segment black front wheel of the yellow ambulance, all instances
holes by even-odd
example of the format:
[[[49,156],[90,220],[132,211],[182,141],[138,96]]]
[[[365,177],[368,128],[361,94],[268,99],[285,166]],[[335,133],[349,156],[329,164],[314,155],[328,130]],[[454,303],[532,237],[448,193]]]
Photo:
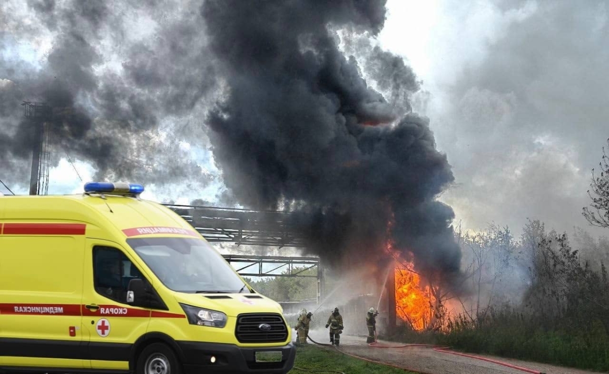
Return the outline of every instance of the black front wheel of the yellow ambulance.
[[[182,374],[182,367],[171,348],[153,343],[139,353],[135,374]]]

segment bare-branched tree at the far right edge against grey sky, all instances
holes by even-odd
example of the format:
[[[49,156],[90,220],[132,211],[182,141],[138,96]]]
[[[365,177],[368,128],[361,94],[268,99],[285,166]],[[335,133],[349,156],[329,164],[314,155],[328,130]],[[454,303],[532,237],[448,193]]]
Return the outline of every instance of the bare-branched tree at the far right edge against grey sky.
[[[607,139],[609,144],[609,139]],[[592,169],[591,189],[588,196],[592,199],[590,207],[583,208],[583,216],[593,226],[609,227],[609,156],[603,147],[603,156],[599,162],[600,175],[594,175]]]

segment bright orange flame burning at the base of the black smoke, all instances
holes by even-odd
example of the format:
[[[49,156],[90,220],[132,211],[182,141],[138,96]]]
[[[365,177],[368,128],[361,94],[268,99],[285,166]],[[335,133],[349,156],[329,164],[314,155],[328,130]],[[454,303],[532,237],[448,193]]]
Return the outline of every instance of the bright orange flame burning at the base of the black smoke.
[[[398,317],[414,330],[424,330],[433,316],[435,298],[429,286],[421,286],[413,264],[395,268],[395,310]]]

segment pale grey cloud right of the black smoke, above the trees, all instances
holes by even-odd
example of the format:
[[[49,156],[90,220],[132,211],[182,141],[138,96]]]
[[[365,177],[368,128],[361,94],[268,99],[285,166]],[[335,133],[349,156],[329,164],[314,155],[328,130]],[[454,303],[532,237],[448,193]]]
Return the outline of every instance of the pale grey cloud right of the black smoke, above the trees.
[[[477,51],[447,56],[439,68],[452,76],[440,73],[445,94],[426,113],[456,175],[443,201],[473,228],[518,229],[525,217],[586,226],[590,169],[609,137],[606,2],[449,2],[445,12],[463,25],[451,30],[455,49]]]

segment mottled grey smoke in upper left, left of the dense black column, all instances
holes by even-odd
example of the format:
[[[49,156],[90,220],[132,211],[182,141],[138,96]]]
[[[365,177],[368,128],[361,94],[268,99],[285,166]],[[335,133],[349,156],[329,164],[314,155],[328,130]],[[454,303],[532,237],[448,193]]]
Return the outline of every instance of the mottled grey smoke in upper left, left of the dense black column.
[[[196,107],[216,82],[199,6],[2,1],[0,178],[29,185],[34,126],[21,103],[33,101],[52,109],[46,116],[52,166],[67,154],[91,161],[100,180],[209,183],[213,176],[180,147],[181,140],[205,146],[191,116],[203,113]],[[147,28],[150,35],[137,35]],[[41,61],[16,57],[20,44],[44,40],[50,48]]]

